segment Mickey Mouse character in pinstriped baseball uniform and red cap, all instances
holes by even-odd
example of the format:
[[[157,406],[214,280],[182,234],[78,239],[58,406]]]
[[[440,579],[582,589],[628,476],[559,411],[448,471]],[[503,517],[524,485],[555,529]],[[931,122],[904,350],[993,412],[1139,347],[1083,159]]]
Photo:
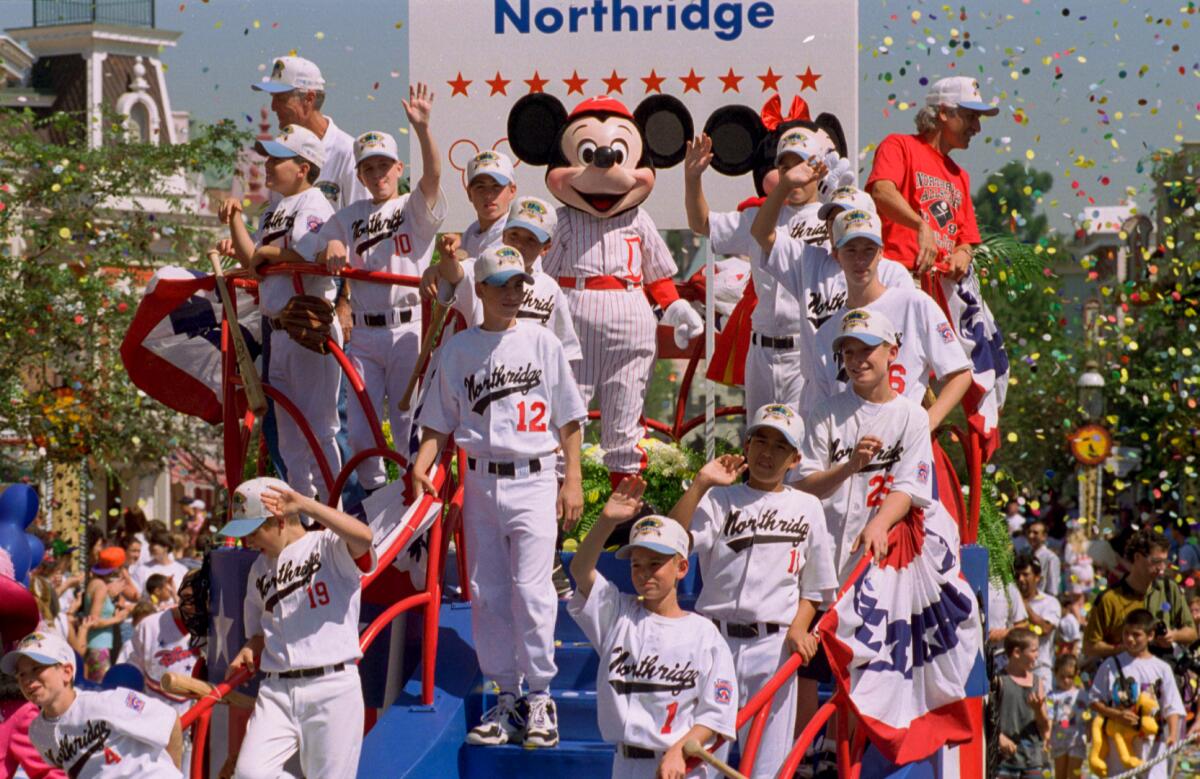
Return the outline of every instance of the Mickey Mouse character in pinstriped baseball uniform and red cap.
[[[648,97],[634,113],[613,97],[593,97],[568,114],[557,98],[533,94],[509,113],[510,148],[546,166],[546,186],[563,203],[544,266],[566,293],[583,349],[572,367],[584,402],[599,397],[613,485],[646,466],[637,443],[656,329],[647,296],[680,348],[704,326],[679,298],[674,259],[641,208],[655,168],[678,164],[691,133],[691,115],[670,95]]]

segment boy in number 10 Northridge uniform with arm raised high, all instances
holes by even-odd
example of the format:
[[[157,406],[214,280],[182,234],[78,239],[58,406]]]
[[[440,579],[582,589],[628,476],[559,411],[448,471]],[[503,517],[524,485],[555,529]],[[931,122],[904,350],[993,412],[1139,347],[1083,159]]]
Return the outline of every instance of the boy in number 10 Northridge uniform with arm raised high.
[[[320,230],[325,248],[320,259],[332,271],[349,266],[403,276],[420,276],[430,265],[433,240],[446,202],[439,185],[442,161],[430,133],[433,94],[425,84],[409,89],[402,101],[408,124],[421,149],[421,178],[412,193],[400,194],[404,163],[396,140],[385,132],[365,132],[354,142],[359,180],[371,193],[334,215]],[[350,317],[354,337],[346,355],[362,378],[371,403],[379,415],[388,399],[388,418],[395,448],[407,454],[412,417],[400,409],[400,397],[416,365],[421,349],[420,295],[414,287],[349,280]],[[371,425],[358,399],[347,405],[347,433],[358,454],[376,447]],[[371,493],[384,485],[388,474],[383,460],[370,457],[356,473],[359,484]]]

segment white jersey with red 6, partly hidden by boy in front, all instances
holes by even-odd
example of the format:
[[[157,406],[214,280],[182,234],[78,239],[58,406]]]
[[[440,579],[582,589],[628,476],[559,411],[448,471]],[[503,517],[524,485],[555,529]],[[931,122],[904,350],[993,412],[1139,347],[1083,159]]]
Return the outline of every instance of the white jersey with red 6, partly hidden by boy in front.
[[[887,316],[896,328],[900,353],[888,370],[892,389],[916,403],[925,397],[929,373],[938,379],[971,367],[959,337],[937,307],[934,299],[919,289],[889,287],[875,301],[863,306]],[[841,316],[845,308],[834,313],[817,330],[812,348],[812,365],[805,383],[805,408],[815,408],[821,397],[828,397],[850,388],[841,354],[835,354],[833,342],[841,332]]]

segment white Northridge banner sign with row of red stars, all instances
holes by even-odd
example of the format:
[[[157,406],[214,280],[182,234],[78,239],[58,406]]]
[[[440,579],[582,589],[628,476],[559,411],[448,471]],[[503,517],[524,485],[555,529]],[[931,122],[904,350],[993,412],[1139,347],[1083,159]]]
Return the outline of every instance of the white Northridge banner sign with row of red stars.
[[[509,109],[530,92],[566,110],[605,94],[630,110],[649,95],[674,95],[696,133],[722,106],[758,112],[778,94],[786,114],[798,95],[814,118],[839,118],[851,158],[858,149],[854,0],[410,0],[408,41],[410,80],[437,95],[446,230],[474,221],[467,162],[482,149],[510,154]],[[545,174],[518,164],[518,191],[554,202]],[[715,210],[755,194],[750,175],[713,170],[704,191]],[[646,208],[659,228],[686,227],[682,166],[659,172]]]

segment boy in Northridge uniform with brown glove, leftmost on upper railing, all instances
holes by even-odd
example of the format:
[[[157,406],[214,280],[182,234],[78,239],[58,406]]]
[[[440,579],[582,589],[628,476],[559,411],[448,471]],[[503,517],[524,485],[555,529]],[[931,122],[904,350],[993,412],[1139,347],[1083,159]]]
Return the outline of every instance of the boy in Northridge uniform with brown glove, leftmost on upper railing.
[[[218,247],[222,253],[236,257],[246,268],[275,263],[313,262],[320,248],[322,226],[334,215],[334,208],[313,186],[325,162],[325,149],[310,130],[288,125],[274,140],[256,144],[266,160],[266,188],[282,196],[278,203],[263,211],[258,233],[250,236],[241,218],[241,202],[229,198],[221,205],[221,221],[229,224],[229,240]],[[270,366],[263,378],[283,393],[307,420],[317,444],[336,474],[342,467],[337,449],[337,385],[341,377],[334,358],[306,349],[288,336],[277,317],[293,295],[308,294],[334,301],[334,280],[329,276],[275,274],[258,283],[258,307],[271,323]],[[331,337],[338,346],[342,329],[334,319]],[[322,499],[328,498],[326,485],[300,427],[292,415],[277,409],[280,456],[288,479],[296,491]]]

